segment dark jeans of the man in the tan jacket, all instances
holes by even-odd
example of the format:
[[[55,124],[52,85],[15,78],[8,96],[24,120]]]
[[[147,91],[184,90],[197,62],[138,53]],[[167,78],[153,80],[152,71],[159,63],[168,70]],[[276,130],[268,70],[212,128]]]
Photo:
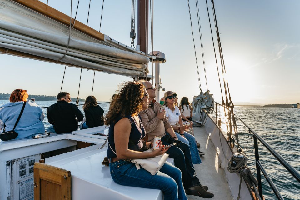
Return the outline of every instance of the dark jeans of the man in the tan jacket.
[[[162,137],[164,145],[172,144],[174,141],[168,134]],[[200,183],[192,162],[190,148],[186,143],[180,142],[178,145],[170,147],[166,153],[174,159],[175,166],[181,170],[184,188],[187,189]]]

